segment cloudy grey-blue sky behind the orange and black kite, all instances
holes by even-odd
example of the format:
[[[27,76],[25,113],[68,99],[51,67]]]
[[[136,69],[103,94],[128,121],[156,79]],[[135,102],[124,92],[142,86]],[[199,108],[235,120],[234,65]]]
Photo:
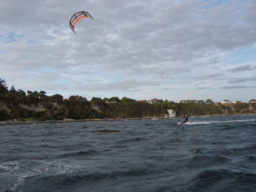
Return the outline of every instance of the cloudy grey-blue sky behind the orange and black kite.
[[[69,20],[79,11],[76,34]],[[0,0],[16,90],[136,100],[256,99],[256,0]]]

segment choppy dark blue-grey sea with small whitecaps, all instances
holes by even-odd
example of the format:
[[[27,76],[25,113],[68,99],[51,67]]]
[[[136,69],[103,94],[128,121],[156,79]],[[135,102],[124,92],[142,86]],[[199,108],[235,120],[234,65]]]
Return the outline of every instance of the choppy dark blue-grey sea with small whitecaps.
[[[255,192],[255,119],[1,125],[0,191]]]

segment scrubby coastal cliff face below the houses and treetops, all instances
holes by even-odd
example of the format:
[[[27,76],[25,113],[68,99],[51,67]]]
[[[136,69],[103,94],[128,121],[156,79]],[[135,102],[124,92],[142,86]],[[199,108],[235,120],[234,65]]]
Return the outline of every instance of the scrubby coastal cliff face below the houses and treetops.
[[[0,100],[0,120],[63,120],[69,119],[118,119],[163,117],[167,109],[174,109],[177,116],[214,116],[255,114],[256,104],[200,104],[139,102],[105,103],[100,101],[48,100],[32,103],[17,103]]]

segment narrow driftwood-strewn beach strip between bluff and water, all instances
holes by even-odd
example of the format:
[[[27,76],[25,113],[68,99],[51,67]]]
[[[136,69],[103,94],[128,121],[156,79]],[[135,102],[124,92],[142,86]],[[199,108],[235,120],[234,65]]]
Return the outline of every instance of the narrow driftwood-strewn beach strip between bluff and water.
[[[250,114],[222,114],[222,115],[202,115],[202,116],[190,116],[190,117],[214,117],[214,116],[242,116],[242,115],[256,115],[254,113]],[[117,118],[117,119],[77,119],[77,120],[27,120],[17,122],[15,120],[0,121],[0,125],[10,125],[10,124],[41,124],[41,123],[70,123],[70,122],[90,122],[90,121],[124,121],[124,120],[144,120],[144,119],[173,119],[173,118],[183,118],[183,117],[136,117],[136,118]]]

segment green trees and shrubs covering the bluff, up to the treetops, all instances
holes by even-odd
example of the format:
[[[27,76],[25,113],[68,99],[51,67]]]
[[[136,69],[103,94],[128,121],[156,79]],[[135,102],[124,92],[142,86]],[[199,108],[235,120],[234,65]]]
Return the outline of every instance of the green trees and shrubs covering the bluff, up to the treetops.
[[[63,120],[70,119],[102,119],[102,118],[140,118],[159,117],[168,114],[167,109],[174,109],[177,116],[222,115],[256,113],[256,104],[200,104],[200,103],[164,103],[148,104],[134,102],[123,97],[93,97],[91,101],[76,100],[70,96],[63,100],[62,95],[47,96],[44,91],[16,91],[14,86],[8,90],[6,81],[0,78],[0,120]],[[211,101],[210,99],[208,99]],[[116,101],[106,103],[105,101]]]

